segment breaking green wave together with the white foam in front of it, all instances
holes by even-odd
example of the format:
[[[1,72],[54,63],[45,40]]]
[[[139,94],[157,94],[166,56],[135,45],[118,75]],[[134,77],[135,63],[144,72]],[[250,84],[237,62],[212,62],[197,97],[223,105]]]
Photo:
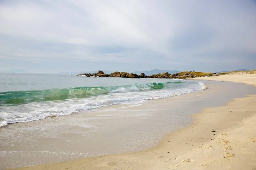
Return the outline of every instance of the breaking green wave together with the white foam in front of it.
[[[206,89],[202,82],[172,80],[121,86],[57,88],[0,93],[0,127],[109,105],[143,102]]]

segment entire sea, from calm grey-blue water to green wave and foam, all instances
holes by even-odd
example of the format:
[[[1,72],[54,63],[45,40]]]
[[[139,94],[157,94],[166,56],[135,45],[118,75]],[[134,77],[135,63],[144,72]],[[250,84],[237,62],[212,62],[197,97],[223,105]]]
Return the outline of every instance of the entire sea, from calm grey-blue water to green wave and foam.
[[[181,79],[0,74],[0,126],[203,89],[200,82]]]

